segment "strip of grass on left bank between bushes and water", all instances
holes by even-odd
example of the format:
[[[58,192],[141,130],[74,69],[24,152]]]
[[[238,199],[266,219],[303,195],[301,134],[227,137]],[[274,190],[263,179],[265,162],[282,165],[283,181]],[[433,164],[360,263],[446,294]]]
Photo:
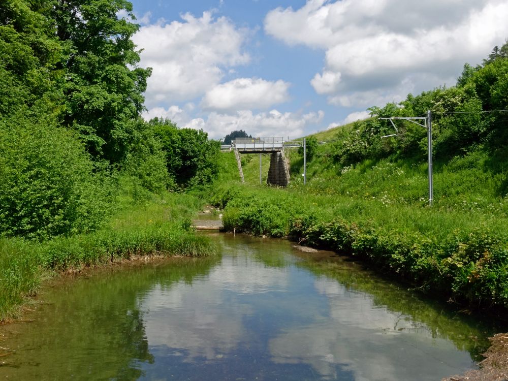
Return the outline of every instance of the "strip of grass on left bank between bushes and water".
[[[43,278],[56,272],[154,253],[213,255],[213,243],[191,228],[191,218],[201,206],[200,199],[185,194],[147,194],[143,201],[124,195],[117,212],[95,232],[43,242],[0,239],[0,321],[15,317]]]

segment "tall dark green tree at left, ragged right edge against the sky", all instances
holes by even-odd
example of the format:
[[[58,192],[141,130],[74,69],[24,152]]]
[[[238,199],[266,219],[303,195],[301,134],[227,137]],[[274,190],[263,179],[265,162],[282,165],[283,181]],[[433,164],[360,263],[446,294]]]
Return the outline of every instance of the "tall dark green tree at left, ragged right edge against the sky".
[[[132,36],[139,26],[125,0],[54,0],[51,16],[65,56],[58,68],[65,109],[61,123],[77,131],[96,158],[119,163],[129,149],[130,122],[143,110],[150,69],[140,60]]]

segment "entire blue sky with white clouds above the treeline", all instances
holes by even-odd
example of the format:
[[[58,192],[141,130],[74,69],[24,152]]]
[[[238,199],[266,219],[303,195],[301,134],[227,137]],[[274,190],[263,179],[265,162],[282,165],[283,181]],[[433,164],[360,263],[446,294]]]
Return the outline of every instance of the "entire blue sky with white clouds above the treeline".
[[[504,0],[135,0],[145,118],[296,138],[453,85],[508,37]]]

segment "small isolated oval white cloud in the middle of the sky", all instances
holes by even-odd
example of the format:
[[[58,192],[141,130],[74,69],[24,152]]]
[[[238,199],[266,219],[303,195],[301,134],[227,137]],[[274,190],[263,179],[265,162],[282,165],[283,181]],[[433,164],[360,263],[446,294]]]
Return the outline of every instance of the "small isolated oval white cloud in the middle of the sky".
[[[260,78],[237,78],[208,90],[201,103],[204,109],[237,111],[263,109],[289,100],[290,84]]]

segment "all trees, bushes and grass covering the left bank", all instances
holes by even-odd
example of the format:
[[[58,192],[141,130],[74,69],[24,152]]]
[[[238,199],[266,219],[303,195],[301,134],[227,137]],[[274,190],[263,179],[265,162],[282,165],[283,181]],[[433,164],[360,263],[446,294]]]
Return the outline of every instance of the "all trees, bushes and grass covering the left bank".
[[[141,117],[151,70],[130,14],[128,1],[0,4],[0,322],[44,273],[214,251],[190,231],[198,199],[168,191],[210,182],[219,143]]]

